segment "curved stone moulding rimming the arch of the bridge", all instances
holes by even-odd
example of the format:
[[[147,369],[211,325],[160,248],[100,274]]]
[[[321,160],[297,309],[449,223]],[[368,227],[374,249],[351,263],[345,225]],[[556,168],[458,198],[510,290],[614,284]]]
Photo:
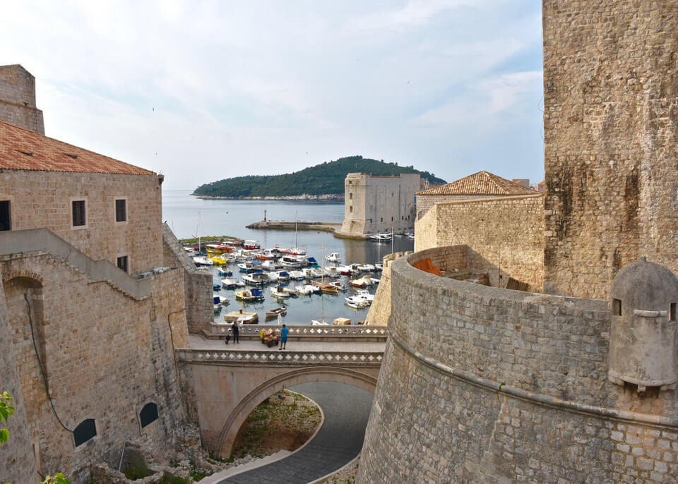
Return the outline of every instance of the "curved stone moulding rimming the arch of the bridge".
[[[304,367],[290,370],[266,380],[238,402],[219,433],[216,451],[221,457],[230,456],[233,452],[235,437],[242,427],[245,419],[258,404],[279,392],[285,387],[293,387],[302,383],[310,382],[336,382],[353,385],[374,394],[376,378],[360,373],[359,371],[339,368],[335,366]]]

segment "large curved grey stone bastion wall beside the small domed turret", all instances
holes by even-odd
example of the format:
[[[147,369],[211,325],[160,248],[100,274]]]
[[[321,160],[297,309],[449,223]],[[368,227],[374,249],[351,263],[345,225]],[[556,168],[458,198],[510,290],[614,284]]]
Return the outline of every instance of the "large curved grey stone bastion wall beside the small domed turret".
[[[674,391],[607,380],[607,301],[391,266],[389,339],[358,482],[675,482]]]

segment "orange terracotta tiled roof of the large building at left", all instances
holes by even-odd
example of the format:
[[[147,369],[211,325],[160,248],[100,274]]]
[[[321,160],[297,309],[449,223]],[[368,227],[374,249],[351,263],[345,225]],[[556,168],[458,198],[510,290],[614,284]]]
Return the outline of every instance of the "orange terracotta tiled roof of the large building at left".
[[[0,121],[0,169],[153,175],[153,171]]]

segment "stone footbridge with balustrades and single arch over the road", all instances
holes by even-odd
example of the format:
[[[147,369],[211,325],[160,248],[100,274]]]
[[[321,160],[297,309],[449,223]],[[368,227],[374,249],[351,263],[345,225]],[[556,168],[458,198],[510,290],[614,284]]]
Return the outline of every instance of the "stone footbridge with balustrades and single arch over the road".
[[[258,332],[269,327],[279,329],[245,327],[240,344],[225,345],[226,328],[214,325],[213,333],[191,335],[189,348],[176,350],[203,445],[219,456],[230,456],[249,413],[283,388],[326,381],[374,393],[386,327],[290,325],[285,351],[261,344]]]

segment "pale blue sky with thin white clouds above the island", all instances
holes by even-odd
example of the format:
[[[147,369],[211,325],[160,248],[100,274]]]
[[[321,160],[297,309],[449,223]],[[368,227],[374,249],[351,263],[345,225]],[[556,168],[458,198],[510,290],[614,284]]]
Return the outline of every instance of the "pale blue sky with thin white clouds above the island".
[[[537,0],[0,0],[45,134],[165,189],[362,155],[544,177]]]

